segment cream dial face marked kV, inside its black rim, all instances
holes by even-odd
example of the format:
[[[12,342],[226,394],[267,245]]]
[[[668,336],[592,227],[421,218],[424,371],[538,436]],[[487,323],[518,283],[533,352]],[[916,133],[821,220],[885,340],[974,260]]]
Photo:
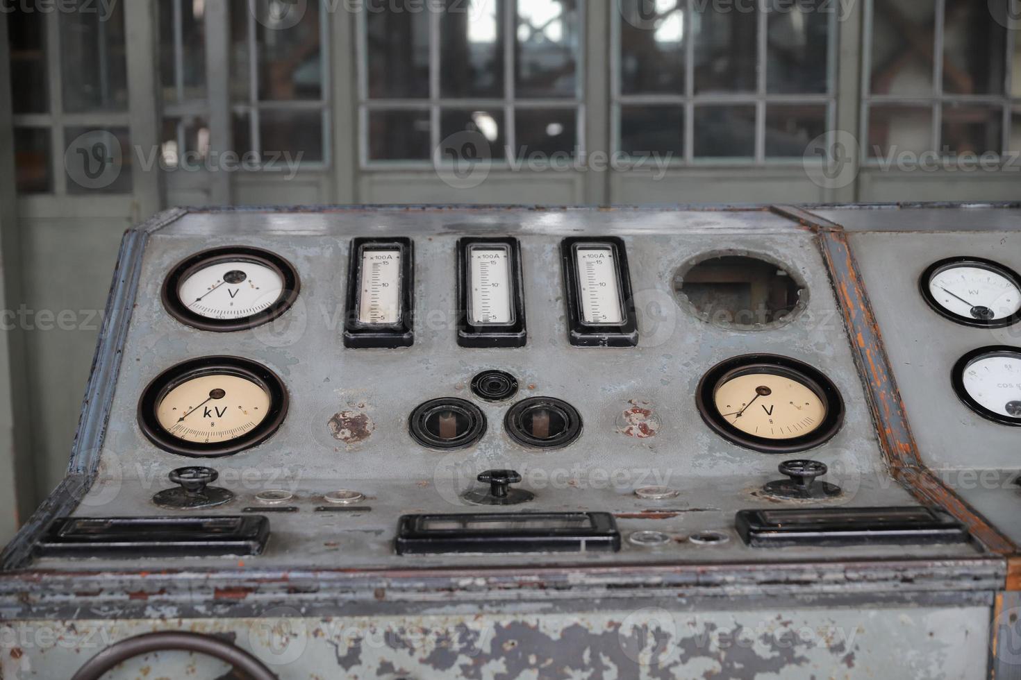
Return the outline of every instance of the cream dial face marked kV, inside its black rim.
[[[237,375],[212,374],[186,380],[156,407],[167,432],[191,442],[236,439],[255,429],[270,413],[270,396]]]

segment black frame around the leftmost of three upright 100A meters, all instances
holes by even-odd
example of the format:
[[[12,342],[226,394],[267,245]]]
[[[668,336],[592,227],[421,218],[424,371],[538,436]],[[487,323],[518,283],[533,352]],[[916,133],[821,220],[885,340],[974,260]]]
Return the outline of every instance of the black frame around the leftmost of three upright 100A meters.
[[[400,316],[397,323],[362,323],[360,308],[361,254],[374,250],[394,250],[401,254]],[[344,314],[344,347],[353,349],[394,349],[415,344],[415,244],[410,239],[354,239],[347,270],[347,307]]]

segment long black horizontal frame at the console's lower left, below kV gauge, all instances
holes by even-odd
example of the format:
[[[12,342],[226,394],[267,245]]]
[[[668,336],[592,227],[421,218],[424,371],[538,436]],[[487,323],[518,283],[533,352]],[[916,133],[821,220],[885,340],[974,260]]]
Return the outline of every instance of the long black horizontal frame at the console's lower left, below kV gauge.
[[[61,517],[36,542],[46,558],[158,558],[260,555],[270,520],[212,517]]]

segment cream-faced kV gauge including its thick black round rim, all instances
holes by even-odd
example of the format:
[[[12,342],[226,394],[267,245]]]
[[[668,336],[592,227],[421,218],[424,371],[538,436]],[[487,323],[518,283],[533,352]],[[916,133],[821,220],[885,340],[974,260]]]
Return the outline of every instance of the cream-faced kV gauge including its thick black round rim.
[[[287,390],[265,366],[205,357],[163,371],[145,388],[138,420],[157,447],[192,457],[229,456],[265,440],[284,421]]]

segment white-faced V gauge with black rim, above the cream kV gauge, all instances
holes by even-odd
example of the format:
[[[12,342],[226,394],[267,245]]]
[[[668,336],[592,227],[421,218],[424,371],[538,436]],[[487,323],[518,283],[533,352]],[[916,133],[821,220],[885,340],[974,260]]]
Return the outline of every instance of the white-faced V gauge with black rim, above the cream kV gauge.
[[[300,281],[284,258],[243,246],[214,248],[180,262],[163,283],[163,305],[202,330],[242,330],[272,321],[298,297]]]

